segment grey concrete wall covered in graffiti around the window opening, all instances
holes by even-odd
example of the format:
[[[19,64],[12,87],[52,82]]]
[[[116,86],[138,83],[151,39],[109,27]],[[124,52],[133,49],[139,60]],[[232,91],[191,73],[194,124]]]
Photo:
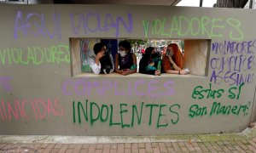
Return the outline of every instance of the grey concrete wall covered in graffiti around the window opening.
[[[233,133],[256,119],[255,10],[0,5],[0,11],[0,134]],[[78,74],[70,52],[79,49],[69,48],[75,37],[209,43],[203,51],[196,50],[200,45],[185,50],[186,66],[203,63],[205,71]]]

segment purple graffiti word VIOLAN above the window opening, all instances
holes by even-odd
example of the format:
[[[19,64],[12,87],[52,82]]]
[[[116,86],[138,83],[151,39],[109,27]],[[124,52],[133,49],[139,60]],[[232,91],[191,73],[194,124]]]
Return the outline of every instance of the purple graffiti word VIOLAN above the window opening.
[[[131,33],[133,30],[133,20],[130,13],[126,14],[126,17],[117,16],[113,14],[70,14],[71,26],[75,35],[83,33],[87,35],[89,33],[100,31],[112,31],[115,30],[115,37],[119,37],[119,31],[121,26],[126,32]],[[127,21],[125,21],[127,18]],[[79,20],[75,20],[79,19]]]

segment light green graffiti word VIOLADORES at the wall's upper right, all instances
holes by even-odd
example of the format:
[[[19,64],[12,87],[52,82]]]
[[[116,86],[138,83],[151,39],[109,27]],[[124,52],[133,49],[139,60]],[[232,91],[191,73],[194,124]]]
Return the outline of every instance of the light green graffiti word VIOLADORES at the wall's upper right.
[[[227,25],[227,26],[226,26]],[[231,40],[242,40],[244,34],[241,31],[241,21],[234,18],[221,19],[202,17],[185,17],[173,15],[172,19],[162,18],[143,20],[145,37],[184,37],[184,36],[207,36],[210,38],[224,37],[219,30],[228,31]],[[175,35],[176,34],[176,35]]]

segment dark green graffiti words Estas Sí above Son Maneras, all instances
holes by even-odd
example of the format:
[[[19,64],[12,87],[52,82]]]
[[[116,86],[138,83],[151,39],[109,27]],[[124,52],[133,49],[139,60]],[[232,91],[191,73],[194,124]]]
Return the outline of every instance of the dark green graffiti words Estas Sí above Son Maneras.
[[[228,89],[228,97],[230,99],[239,99],[241,95],[241,87],[244,83],[241,83],[239,87],[234,86]],[[212,83],[209,83],[209,88],[203,88],[202,86],[197,86],[194,88],[192,93],[193,99],[218,99],[224,94],[224,89],[212,89]]]

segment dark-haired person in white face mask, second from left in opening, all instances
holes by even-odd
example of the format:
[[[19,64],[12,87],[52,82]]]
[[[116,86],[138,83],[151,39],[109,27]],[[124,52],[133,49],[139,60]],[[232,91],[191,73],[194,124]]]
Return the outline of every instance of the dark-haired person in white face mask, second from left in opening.
[[[115,55],[114,69],[124,76],[137,72],[137,58],[131,53],[130,42],[119,42],[119,53]]]

